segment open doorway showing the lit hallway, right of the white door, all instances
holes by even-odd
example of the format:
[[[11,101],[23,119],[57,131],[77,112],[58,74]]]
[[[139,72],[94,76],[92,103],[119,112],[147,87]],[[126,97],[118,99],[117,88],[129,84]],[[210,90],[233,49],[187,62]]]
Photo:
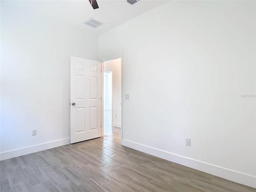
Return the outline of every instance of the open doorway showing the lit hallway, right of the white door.
[[[103,134],[104,138],[112,138],[121,142],[122,121],[122,72],[121,58],[107,60],[103,68]]]

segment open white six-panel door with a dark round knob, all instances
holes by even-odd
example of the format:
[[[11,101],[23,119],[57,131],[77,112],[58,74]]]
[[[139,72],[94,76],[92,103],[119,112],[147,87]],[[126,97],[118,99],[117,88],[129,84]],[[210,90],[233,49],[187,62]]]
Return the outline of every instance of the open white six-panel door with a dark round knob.
[[[101,62],[70,58],[70,142],[101,136]]]

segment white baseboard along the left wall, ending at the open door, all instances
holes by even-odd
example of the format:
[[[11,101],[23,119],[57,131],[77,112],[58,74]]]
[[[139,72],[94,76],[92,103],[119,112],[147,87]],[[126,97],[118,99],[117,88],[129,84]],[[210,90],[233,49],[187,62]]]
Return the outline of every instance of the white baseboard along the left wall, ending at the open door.
[[[26,154],[54,148],[54,147],[59,147],[67,144],[70,144],[70,138],[43,143],[43,144],[34,145],[34,146],[29,146],[25,148],[20,148],[16,150],[6,151],[6,152],[0,153],[0,160],[6,160],[6,159],[10,159],[10,158],[14,158],[14,157],[18,157],[18,156],[22,156],[22,155],[26,155]]]

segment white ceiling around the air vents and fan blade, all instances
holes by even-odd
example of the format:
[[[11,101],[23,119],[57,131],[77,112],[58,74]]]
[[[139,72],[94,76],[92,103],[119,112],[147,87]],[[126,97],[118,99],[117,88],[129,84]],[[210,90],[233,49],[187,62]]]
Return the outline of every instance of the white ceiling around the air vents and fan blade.
[[[98,35],[139,16],[168,0],[140,0],[131,5],[126,0],[97,0],[98,9],[93,9],[88,0],[49,0],[49,1],[12,1],[14,6],[37,14],[44,14],[79,25]],[[98,28],[92,28],[84,21],[94,18],[103,22]]]

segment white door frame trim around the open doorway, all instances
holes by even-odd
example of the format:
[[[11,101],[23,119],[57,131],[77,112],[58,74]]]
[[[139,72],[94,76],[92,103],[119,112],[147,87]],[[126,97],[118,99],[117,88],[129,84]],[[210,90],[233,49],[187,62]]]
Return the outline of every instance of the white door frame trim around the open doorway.
[[[101,60],[101,136],[104,136],[104,62],[121,58],[121,145],[123,143],[123,54]],[[113,117],[111,117],[113,118]],[[112,120],[113,121],[113,120]]]

